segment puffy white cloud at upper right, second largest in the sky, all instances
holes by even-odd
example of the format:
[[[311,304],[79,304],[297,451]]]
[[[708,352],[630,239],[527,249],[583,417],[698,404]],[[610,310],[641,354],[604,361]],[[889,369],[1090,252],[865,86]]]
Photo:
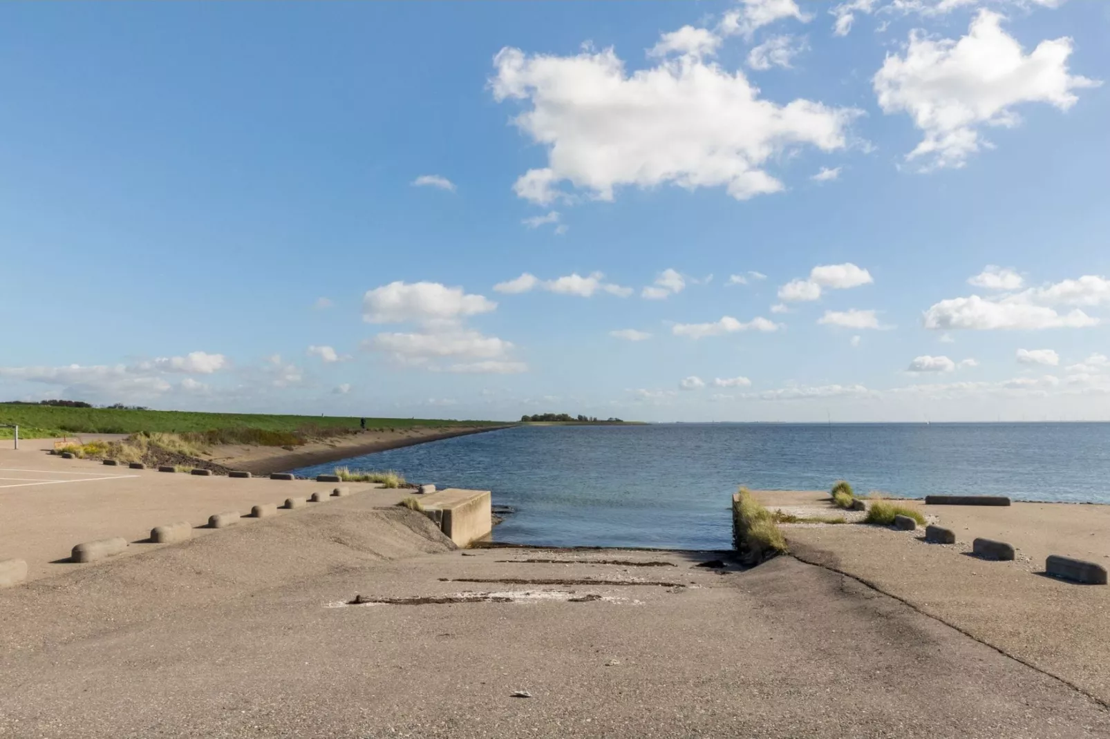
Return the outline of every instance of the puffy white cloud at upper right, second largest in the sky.
[[[980,10],[958,41],[910,33],[905,55],[888,54],[872,83],[882,112],[908,113],[925,139],[906,159],[922,169],[959,168],[989,142],[985,125],[1015,126],[1016,105],[1076,104],[1076,90],[1099,84],[1068,72],[1072,41],[1041,41],[1026,54],[1001,27],[1002,16]]]

